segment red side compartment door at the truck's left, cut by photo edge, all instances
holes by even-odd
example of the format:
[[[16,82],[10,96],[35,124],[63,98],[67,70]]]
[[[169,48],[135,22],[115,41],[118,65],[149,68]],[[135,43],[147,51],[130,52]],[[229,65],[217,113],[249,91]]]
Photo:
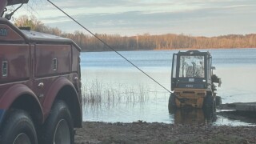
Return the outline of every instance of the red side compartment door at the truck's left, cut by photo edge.
[[[30,46],[0,44],[0,83],[30,78]]]

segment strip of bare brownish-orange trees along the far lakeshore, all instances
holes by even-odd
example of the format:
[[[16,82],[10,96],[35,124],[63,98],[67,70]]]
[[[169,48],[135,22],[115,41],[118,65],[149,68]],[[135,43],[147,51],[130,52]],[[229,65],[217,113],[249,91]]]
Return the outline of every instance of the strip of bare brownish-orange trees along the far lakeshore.
[[[54,34],[73,39],[82,51],[109,51],[97,38],[79,31],[64,33],[58,28],[45,26],[34,16],[23,15],[14,20],[19,27],[29,26],[31,30]],[[214,48],[253,48],[256,47],[256,34],[229,34],[218,37],[195,37],[185,34],[142,34],[120,36],[118,34],[96,34],[114,50],[178,50],[178,49],[214,49]]]

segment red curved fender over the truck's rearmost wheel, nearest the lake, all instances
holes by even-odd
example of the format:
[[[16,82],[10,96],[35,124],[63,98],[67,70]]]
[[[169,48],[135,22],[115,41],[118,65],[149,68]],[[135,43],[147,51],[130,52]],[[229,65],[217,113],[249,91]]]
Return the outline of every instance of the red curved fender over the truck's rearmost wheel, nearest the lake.
[[[76,94],[75,98],[77,99],[77,102],[79,102],[78,93],[76,92],[76,89],[74,88],[73,83],[70,82],[67,78],[64,78],[64,77],[58,78],[51,84],[50,90],[48,90],[46,94],[46,98],[42,104],[44,121],[46,120],[48,114],[50,113],[54,100],[58,96],[58,92],[62,90],[64,86],[70,86],[74,90]]]

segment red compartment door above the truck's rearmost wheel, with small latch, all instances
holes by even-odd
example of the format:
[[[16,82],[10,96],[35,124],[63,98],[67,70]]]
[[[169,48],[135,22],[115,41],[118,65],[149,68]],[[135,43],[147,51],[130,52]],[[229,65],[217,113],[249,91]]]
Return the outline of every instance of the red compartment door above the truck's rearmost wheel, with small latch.
[[[70,45],[36,45],[35,77],[70,73],[71,56]]]

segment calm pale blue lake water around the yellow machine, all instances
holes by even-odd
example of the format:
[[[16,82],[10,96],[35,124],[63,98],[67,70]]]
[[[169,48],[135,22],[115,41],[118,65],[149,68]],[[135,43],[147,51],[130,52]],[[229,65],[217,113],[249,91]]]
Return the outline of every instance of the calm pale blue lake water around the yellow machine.
[[[256,102],[256,49],[201,50],[213,57],[214,73],[222,78],[222,103]],[[178,50],[119,52],[170,90],[172,54]],[[83,121],[186,123],[206,122],[202,112],[170,114],[170,93],[114,52],[81,54],[82,84],[86,95],[96,93],[96,104],[84,102]],[[94,90],[93,90],[94,89]],[[95,90],[96,89],[96,90]],[[192,116],[191,116],[192,114]],[[217,115],[216,125],[250,125]]]

